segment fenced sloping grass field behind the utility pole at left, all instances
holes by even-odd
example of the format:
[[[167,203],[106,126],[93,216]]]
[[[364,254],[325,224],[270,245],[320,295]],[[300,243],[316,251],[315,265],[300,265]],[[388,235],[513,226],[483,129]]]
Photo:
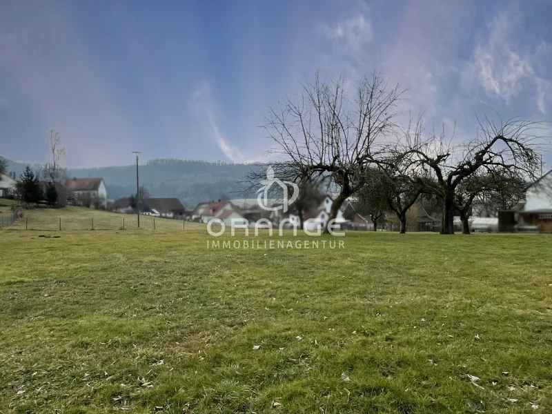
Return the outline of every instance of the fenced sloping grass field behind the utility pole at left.
[[[93,208],[66,206],[64,208],[34,208],[25,210],[23,219],[17,221],[10,230],[58,230],[61,218],[61,230],[122,230],[123,220],[126,230],[136,230],[138,219],[136,215],[108,213]],[[93,223],[92,223],[93,220]],[[141,230],[153,230],[153,217],[140,216]],[[188,230],[206,228],[204,224],[185,224]],[[155,218],[157,230],[183,230],[181,220]]]

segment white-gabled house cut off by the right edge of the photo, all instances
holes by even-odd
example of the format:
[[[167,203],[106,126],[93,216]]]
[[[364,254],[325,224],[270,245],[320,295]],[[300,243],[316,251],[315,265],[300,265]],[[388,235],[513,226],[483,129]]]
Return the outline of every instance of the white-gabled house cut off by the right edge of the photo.
[[[517,228],[552,233],[552,170],[527,187]]]

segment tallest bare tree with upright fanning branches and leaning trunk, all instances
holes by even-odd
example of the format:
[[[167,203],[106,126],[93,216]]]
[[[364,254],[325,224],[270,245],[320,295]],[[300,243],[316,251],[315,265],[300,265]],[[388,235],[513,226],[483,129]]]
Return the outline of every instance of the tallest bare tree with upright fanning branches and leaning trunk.
[[[359,80],[351,97],[345,84],[322,81],[317,73],[314,81],[302,83],[300,95],[270,107],[265,125],[276,144],[277,162],[271,164],[280,179],[331,177],[337,196],[328,223],[362,187],[366,168],[382,154],[381,144],[398,130],[398,86],[388,88],[379,72]]]

